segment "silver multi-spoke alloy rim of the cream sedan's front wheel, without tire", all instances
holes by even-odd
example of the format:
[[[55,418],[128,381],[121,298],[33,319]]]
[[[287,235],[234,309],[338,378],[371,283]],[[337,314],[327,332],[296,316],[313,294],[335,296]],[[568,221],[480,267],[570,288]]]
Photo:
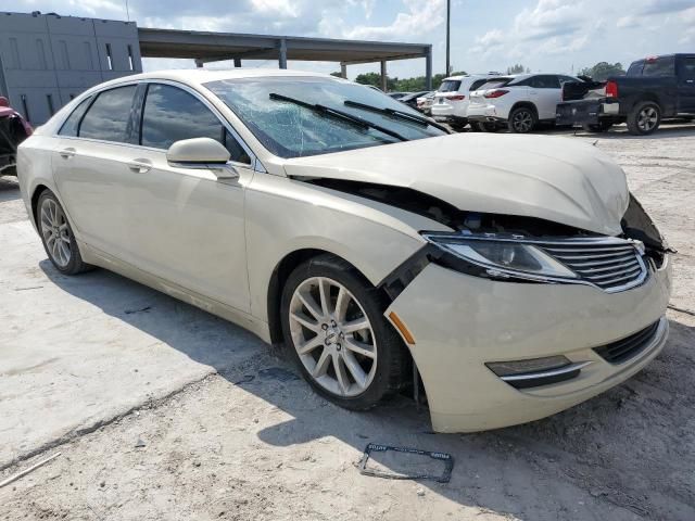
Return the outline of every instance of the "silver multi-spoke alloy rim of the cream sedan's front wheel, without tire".
[[[354,295],[327,277],[304,280],[289,309],[292,343],[321,387],[341,397],[365,392],[377,370],[377,343],[369,318]]]

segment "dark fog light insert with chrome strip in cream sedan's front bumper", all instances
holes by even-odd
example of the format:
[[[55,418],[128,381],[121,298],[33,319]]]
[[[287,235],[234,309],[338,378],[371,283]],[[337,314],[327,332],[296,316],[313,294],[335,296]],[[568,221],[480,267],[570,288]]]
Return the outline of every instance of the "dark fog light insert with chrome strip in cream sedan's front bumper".
[[[488,369],[513,387],[528,389],[577,378],[591,361],[571,363],[565,356],[548,356],[517,361],[492,361]]]

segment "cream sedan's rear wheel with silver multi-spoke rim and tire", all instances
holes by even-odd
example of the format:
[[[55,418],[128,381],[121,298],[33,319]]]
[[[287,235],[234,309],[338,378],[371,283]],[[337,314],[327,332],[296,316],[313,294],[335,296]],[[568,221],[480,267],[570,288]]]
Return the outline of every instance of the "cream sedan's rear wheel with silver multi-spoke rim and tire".
[[[43,249],[55,269],[64,275],[77,275],[91,269],[83,260],[63,206],[50,190],[39,195],[36,221]]]

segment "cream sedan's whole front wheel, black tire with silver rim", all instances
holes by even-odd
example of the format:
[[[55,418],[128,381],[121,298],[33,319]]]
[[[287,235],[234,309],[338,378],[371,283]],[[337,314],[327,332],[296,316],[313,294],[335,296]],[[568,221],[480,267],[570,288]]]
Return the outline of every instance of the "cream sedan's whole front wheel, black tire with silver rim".
[[[314,257],[282,290],[282,332],[306,381],[352,410],[374,407],[404,381],[405,351],[383,317],[387,302],[345,260]]]

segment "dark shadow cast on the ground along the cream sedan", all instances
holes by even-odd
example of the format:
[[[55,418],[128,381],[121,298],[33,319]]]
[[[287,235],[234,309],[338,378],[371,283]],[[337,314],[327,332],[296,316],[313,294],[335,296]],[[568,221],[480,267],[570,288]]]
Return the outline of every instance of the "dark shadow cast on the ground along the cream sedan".
[[[375,442],[446,452],[456,461],[451,482],[424,481],[421,486],[460,505],[525,519],[595,519],[606,512],[611,519],[695,519],[695,329],[677,320],[671,320],[669,344],[653,364],[594,399],[526,425],[443,435],[430,432],[427,411],[406,397],[363,414],[328,404],[282,357],[270,356],[266,344],[224,320],[214,319],[215,336],[256,346],[255,363],[236,367],[218,342],[191,347],[190,335],[179,334],[170,321],[143,315],[175,313],[186,329],[210,316],[166,295],[143,293],[136,282],[105,270],[67,278],[48,260],[40,267],[64,291],[213,366],[231,384],[292,417],[262,430],[263,443],[287,447],[332,436],[357,450]],[[113,298],[128,292],[139,295],[132,305]],[[378,478],[364,479],[379,487]],[[583,498],[579,513],[578,494]]]

